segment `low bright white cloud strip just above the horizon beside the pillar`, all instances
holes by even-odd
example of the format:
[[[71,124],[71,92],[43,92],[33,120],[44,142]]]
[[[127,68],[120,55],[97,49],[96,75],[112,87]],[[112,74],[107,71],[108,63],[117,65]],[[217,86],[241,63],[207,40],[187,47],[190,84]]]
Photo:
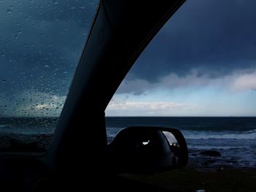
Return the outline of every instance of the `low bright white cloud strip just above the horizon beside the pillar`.
[[[108,104],[106,115],[176,115],[197,108],[197,104],[185,104],[176,102],[141,102],[141,101],[118,101],[112,100]]]

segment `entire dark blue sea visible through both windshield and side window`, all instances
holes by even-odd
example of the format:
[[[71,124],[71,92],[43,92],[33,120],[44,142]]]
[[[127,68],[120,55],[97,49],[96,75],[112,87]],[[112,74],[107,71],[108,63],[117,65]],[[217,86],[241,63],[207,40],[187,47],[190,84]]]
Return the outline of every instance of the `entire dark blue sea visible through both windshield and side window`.
[[[0,153],[47,150],[58,118],[0,118]],[[189,164],[200,169],[256,168],[256,118],[107,117],[108,143],[129,126],[178,128]],[[203,155],[214,150],[220,156]]]

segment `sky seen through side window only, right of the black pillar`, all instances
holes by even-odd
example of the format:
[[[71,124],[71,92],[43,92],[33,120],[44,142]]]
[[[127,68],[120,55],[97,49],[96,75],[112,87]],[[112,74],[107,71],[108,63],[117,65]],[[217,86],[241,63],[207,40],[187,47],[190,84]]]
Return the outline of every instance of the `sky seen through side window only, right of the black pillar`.
[[[121,83],[108,116],[255,116],[256,1],[188,0]]]

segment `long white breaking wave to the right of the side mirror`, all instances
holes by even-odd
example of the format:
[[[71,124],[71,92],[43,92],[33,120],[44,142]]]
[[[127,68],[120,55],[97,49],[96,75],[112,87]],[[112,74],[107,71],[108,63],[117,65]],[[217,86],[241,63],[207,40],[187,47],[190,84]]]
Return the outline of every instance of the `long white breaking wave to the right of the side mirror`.
[[[256,129],[250,131],[182,131],[185,139],[256,139]]]

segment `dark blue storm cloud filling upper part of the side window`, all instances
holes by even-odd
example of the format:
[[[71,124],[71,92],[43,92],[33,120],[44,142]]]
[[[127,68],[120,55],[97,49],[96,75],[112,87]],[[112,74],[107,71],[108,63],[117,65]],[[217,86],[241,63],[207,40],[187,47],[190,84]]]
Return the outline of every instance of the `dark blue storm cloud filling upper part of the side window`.
[[[256,1],[191,0],[162,28],[129,73],[157,82],[174,73],[222,77],[256,66]]]

